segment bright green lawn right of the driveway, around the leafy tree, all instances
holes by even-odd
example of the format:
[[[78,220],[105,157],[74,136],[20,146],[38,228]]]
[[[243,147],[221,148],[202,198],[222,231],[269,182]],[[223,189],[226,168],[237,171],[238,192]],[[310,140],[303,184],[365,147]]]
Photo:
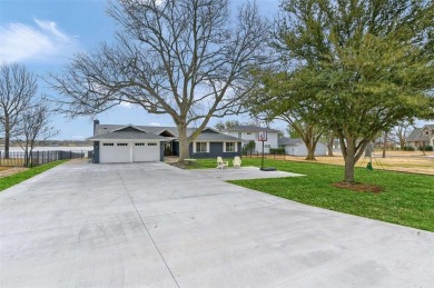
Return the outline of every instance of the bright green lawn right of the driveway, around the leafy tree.
[[[260,166],[260,159],[244,158],[243,166]],[[433,176],[356,168],[356,181],[384,188],[372,193],[332,187],[343,180],[341,166],[269,159],[266,166],[306,176],[229,182],[310,206],[434,231]],[[204,159],[190,168],[215,167],[215,159]]]

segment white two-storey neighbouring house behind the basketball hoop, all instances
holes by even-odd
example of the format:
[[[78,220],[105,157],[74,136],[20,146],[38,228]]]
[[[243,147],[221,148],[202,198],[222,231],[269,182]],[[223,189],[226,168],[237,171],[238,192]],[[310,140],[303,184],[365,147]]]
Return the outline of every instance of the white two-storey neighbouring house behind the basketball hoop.
[[[270,148],[278,148],[277,138],[278,130],[272,128],[262,128],[257,126],[235,126],[223,130],[223,133],[228,136],[237,137],[243,139],[243,145],[246,145],[248,141],[255,141],[255,151],[263,152],[263,142],[258,141],[260,132],[267,132],[267,141],[264,142],[264,152],[269,153]]]

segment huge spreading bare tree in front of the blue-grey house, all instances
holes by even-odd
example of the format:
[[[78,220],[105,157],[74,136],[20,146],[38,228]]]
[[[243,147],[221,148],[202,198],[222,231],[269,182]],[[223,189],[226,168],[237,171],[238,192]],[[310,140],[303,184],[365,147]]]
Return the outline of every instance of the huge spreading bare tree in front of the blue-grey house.
[[[109,14],[121,30],[115,46],[79,53],[51,86],[70,117],[121,102],[167,113],[179,132],[179,159],[211,117],[240,112],[249,71],[269,60],[268,26],[256,6],[231,14],[228,0],[121,0]],[[198,129],[191,136],[187,127]]]

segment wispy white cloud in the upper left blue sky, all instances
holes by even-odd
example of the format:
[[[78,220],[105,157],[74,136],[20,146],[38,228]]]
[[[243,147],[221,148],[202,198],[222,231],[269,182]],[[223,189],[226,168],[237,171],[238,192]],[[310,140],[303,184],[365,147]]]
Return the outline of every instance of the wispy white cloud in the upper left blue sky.
[[[34,19],[36,26],[9,23],[0,27],[0,61],[52,61],[69,57],[77,41],[53,21]]]

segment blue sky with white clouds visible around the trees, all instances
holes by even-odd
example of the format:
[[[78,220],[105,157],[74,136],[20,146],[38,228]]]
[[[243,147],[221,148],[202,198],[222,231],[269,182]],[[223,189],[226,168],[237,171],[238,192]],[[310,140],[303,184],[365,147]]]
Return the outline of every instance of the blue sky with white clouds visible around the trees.
[[[233,8],[244,2],[233,0]],[[279,0],[256,2],[264,16],[273,17]],[[0,61],[24,64],[43,77],[59,71],[75,51],[89,51],[101,41],[112,41],[116,26],[106,11],[106,0],[0,0]],[[42,81],[39,93],[56,96]],[[102,123],[174,126],[167,116],[129,107],[111,109],[98,119]],[[89,118],[68,120],[57,116],[53,125],[61,130],[58,139],[83,139],[92,133]]]

